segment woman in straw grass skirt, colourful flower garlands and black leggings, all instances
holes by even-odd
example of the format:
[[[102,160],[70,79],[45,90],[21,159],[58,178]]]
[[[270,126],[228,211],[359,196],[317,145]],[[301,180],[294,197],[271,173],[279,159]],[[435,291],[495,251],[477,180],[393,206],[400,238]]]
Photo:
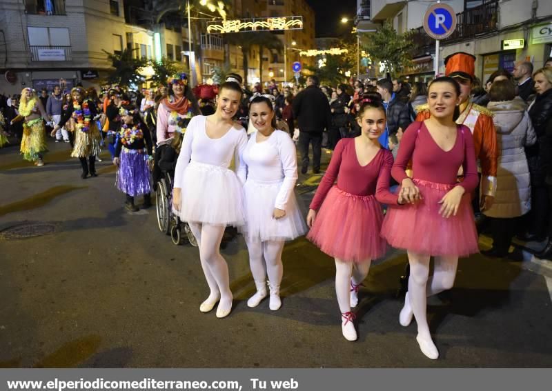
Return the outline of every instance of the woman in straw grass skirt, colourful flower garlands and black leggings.
[[[81,161],[81,178],[86,179],[88,174],[97,177],[96,157],[99,156],[101,133],[95,117],[97,116],[96,103],[86,99],[86,92],[81,87],[71,90],[72,103],[63,111],[61,120],[54,127],[50,136],[55,137],[57,131],[66,126],[73,134],[74,146],[71,157],[78,157]]]

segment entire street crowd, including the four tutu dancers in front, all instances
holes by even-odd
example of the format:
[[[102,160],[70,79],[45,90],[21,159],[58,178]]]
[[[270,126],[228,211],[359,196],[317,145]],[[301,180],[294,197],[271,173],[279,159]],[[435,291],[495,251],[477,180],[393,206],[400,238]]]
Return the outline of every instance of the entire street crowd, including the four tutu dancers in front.
[[[118,87],[98,94],[57,86],[41,96],[25,88],[0,101],[0,147],[14,137],[23,159],[43,166],[50,134],[70,144],[82,179],[97,176],[95,162],[108,148],[130,211],[139,209],[136,197],[151,206],[151,192],[168,176],[168,213],[197,240],[209,288],[199,310],[216,305],[218,318],[233,305],[219,251],[228,226],[246,241],[252,308],[266,297],[270,310],[281,307],[286,241],[306,234],[333,257],[348,341],[357,339],[352,309],[371,261],[389,245],[406,250],[399,322],[415,319],[420,350],[437,359],[426,298],[453,287],[459,257],[480,252],[478,229],[493,239],[487,257],[508,257],[517,235],[542,242],[536,255],[552,259],[552,59],[538,70],[518,61],[484,85],[471,54],[452,54],[445,66],[444,76],[412,86],[379,79],[333,88],[310,76],[306,88],[280,91],[271,81],[250,91],[228,74],[219,86],[192,89],[176,74],[134,97]],[[294,188],[298,166],[303,174],[311,166],[311,147],[314,174],[322,148],[333,152],[304,219]]]

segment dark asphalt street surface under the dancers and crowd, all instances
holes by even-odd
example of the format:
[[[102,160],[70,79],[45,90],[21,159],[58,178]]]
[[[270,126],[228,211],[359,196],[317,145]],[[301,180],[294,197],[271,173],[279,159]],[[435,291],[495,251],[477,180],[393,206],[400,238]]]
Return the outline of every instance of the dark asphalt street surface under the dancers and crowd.
[[[0,149],[0,368],[552,366],[549,261],[460,261],[453,290],[428,302],[437,361],[420,352],[415,322],[398,323],[400,252],[373,265],[357,307],[359,340],[348,342],[331,258],[305,239],[288,243],[282,308],[251,309],[246,246],[228,238],[235,302],[217,319],[199,312],[208,289],[197,248],[159,232],[155,208],[124,210],[108,153],[99,177],[82,180],[68,145],[49,147],[42,168],[14,146]],[[318,180],[299,178],[304,206]],[[33,232],[23,223],[46,234],[21,239]]]

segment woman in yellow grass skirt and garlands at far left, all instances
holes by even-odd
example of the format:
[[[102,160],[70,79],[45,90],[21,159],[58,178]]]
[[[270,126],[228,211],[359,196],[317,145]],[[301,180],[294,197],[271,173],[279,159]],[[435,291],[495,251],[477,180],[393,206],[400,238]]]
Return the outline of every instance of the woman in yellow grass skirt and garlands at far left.
[[[12,119],[11,123],[24,120],[23,138],[19,150],[23,159],[34,161],[36,166],[44,166],[44,154],[48,152],[46,137],[44,134],[44,121],[50,118],[42,106],[37,93],[32,88],[23,88],[19,101],[19,115]]]

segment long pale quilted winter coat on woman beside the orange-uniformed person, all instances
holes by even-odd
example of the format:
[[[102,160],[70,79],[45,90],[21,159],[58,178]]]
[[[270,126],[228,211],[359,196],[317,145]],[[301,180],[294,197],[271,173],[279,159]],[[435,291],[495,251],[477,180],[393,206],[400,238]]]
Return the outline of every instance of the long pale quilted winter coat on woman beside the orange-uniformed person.
[[[500,218],[522,216],[531,210],[531,180],[524,147],[537,141],[535,130],[527,106],[519,97],[491,101],[487,108],[494,114],[500,157],[495,202],[483,213]]]

